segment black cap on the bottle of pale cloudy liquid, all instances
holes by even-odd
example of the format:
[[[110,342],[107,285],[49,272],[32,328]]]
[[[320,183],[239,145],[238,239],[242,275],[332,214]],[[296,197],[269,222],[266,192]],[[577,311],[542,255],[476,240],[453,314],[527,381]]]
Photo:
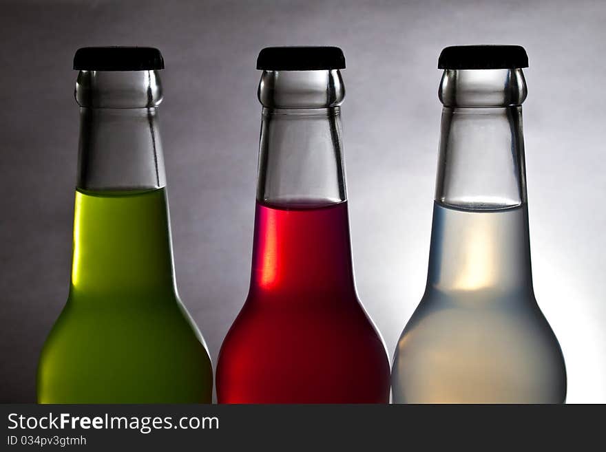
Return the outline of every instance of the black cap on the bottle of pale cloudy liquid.
[[[528,67],[521,45],[453,45],[442,50],[438,69],[515,69]]]

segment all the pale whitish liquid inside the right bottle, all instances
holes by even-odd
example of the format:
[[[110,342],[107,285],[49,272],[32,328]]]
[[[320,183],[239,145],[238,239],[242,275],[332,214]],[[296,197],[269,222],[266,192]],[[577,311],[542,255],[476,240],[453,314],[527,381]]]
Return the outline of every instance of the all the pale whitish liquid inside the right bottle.
[[[527,206],[463,211],[435,202],[433,218],[428,279],[452,284],[428,283],[402,333],[394,402],[564,402],[560,347],[519,277],[530,275]]]

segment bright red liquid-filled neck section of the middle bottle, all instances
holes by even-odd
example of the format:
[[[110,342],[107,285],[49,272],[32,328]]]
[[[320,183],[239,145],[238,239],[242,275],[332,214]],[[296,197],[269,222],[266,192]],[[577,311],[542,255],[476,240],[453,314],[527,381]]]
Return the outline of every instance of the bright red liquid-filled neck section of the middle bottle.
[[[250,299],[355,299],[347,203],[283,208],[257,202]]]

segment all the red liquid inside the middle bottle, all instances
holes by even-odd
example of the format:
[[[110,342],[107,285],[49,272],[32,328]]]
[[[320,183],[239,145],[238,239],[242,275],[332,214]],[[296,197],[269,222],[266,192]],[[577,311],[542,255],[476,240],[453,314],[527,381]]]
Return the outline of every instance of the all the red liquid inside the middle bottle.
[[[251,288],[217,367],[219,403],[386,403],[385,348],[353,281],[347,204],[257,203]]]

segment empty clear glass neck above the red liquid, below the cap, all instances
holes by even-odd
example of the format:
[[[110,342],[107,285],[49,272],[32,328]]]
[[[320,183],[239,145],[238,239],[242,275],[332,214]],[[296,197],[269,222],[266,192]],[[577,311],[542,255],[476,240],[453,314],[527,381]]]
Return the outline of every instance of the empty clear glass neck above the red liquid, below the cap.
[[[285,206],[346,200],[338,70],[263,71],[257,200]]]

